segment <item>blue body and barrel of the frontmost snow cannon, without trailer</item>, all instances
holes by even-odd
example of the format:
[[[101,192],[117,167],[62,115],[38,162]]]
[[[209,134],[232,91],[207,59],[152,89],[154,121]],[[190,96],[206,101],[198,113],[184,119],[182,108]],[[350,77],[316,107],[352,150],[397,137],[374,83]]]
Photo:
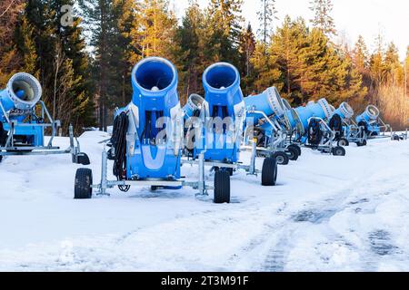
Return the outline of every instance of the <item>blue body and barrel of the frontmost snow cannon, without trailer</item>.
[[[127,108],[133,118],[129,118],[126,176],[122,178],[180,179],[183,120],[177,82],[175,66],[163,58],[150,57],[135,65],[134,94]],[[116,117],[121,114],[125,119],[123,111]]]

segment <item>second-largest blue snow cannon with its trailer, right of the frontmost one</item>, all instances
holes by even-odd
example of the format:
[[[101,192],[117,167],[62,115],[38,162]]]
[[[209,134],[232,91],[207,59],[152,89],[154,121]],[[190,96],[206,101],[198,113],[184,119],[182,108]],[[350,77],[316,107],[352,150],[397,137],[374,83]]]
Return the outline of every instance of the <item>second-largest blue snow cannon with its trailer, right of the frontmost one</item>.
[[[230,182],[234,170],[244,169],[249,175],[261,173],[263,186],[274,186],[277,178],[276,161],[267,158],[263,169],[256,169],[254,140],[250,164],[240,162],[245,104],[237,69],[230,63],[214,63],[205,70],[203,86],[205,98],[199,99],[195,95],[195,101],[201,103],[201,109],[190,122],[186,136],[186,145],[194,146],[187,149],[190,154],[183,163],[194,165],[198,156],[204,154],[205,165],[212,167],[215,179]],[[190,101],[194,101],[193,98]],[[189,138],[190,135],[194,137]]]

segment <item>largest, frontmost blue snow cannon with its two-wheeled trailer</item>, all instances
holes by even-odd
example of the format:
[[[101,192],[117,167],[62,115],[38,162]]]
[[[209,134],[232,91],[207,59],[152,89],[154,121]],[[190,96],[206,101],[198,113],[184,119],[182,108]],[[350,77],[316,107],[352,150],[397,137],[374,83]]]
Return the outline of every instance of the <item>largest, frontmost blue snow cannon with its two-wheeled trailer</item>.
[[[186,181],[181,176],[184,115],[177,94],[177,72],[173,63],[159,57],[145,58],[132,72],[132,102],[115,111],[110,150],[103,150],[101,182],[93,184],[91,169],[78,169],[75,175],[75,198],[109,195],[108,189],[121,191],[131,186],[156,189],[191,187],[207,195],[214,189],[214,201],[230,197],[228,180],[216,176],[214,187],[205,184],[204,154],[199,155],[199,180]],[[107,179],[108,160],[113,160],[116,180]]]

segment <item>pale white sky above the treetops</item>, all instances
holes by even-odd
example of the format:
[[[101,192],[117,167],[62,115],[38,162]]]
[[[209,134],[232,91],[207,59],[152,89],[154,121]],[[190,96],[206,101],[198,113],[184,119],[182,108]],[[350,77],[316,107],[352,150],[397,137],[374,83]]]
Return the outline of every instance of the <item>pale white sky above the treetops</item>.
[[[176,14],[184,14],[188,0],[173,0]],[[243,14],[247,22],[258,27],[257,10],[260,0],[244,0]],[[199,0],[205,7],[208,0]],[[310,0],[275,0],[278,24],[286,14],[291,17],[303,16],[310,20]],[[406,47],[409,45],[409,0],[333,0],[333,17],[338,30],[347,43],[354,44],[358,35],[364,36],[370,52],[374,50],[374,38],[379,32],[384,35],[384,42],[394,42],[404,60]]]

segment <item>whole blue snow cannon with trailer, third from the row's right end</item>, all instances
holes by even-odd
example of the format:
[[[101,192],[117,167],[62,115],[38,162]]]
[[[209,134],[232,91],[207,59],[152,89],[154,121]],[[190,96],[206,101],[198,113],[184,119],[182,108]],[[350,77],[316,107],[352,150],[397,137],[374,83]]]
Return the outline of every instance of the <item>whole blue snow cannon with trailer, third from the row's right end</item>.
[[[307,148],[330,153],[334,156],[344,156],[342,146],[334,145],[336,132],[329,125],[334,107],[325,99],[318,102],[308,102],[306,106],[292,109],[291,120],[295,126],[294,140]]]

